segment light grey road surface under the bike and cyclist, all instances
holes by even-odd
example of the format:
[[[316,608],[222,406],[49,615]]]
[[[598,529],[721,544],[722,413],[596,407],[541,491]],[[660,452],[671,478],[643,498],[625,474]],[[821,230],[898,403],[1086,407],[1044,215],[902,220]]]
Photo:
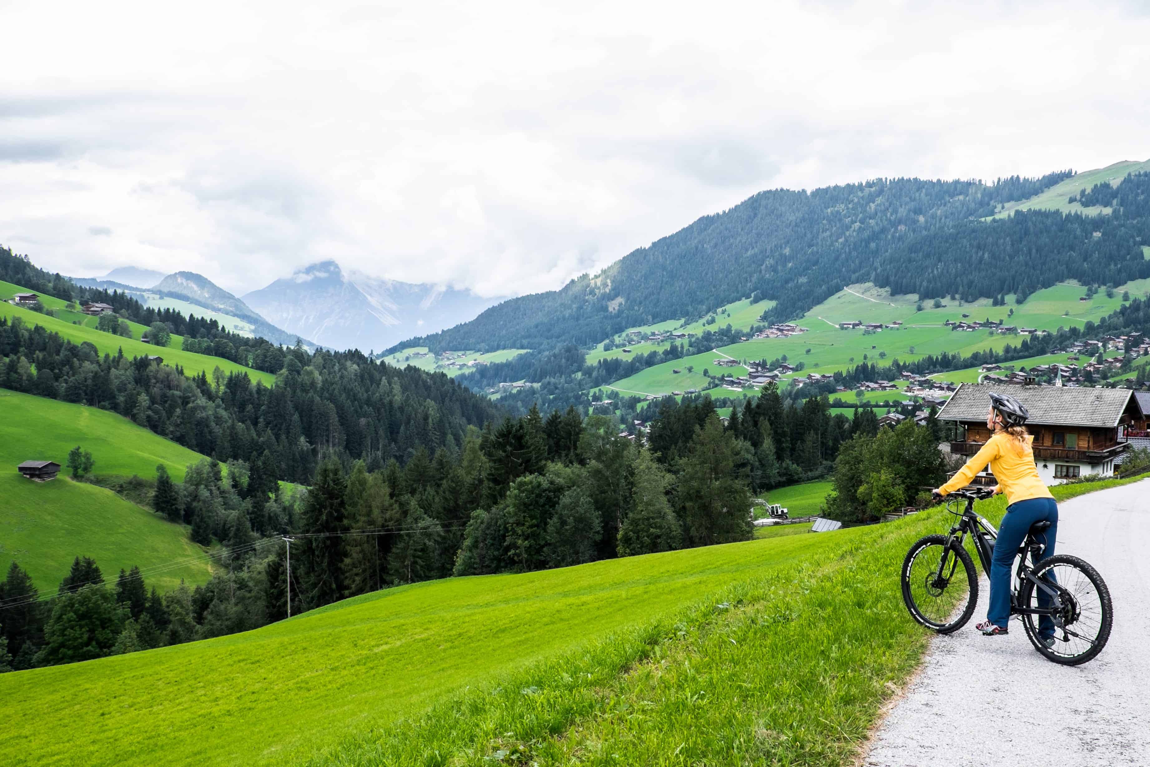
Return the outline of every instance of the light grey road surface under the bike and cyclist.
[[[983,578],[975,616],[934,638],[862,765],[1150,765],[1150,480],[1073,498],[1058,514],[1058,553],[1090,562],[1110,586],[1106,649],[1068,668],[1035,652],[1017,620],[1009,636],[979,635]]]

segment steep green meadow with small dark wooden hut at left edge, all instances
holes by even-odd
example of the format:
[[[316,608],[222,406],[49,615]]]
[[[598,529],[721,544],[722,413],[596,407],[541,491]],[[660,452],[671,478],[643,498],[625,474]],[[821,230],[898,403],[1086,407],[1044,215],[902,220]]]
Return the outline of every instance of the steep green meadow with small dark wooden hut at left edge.
[[[202,549],[179,524],[130,504],[110,490],[64,478],[38,483],[16,473],[25,460],[66,463],[78,445],[92,452],[94,473],[155,475],[164,463],[177,480],[202,457],[114,413],[0,389],[0,568],[16,560],[38,589],[55,591],[76,555],[95,559],[105,578],[132,565],[194,558],[147,578],[161,591],[181,578],[208,578]]]

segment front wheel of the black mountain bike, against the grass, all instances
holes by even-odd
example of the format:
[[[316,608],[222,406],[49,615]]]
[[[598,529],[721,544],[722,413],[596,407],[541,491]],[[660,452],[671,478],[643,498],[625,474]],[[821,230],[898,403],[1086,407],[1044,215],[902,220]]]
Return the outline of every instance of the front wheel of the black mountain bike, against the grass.
[[[971,555],[943,535],[926,536],[911,546],[903,560],[902,581],[911,618],[938,634],[966,626],[979,601],[979,576]]]

